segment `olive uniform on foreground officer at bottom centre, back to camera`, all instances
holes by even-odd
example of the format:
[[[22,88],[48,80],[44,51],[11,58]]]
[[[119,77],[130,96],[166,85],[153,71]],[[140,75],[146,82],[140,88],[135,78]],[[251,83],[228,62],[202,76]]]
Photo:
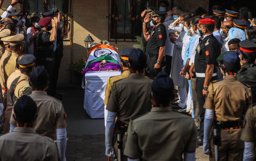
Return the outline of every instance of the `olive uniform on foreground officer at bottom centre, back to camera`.
[[[171,107],[153,107],[129,123],[124,155],[141,161],[182,161],[184,151],[196,148],[196,125],[189,115]]]

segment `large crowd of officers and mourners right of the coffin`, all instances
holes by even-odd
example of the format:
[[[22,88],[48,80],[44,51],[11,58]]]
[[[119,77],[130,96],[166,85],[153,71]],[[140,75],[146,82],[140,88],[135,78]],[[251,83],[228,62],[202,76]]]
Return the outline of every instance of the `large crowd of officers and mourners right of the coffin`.
[[[142,11],[143,50],[124,48],[106,87],[113,160],[254,160],[256,24],[246,7]],[[178,100],[175,98],[176,86]],[[172,102],[173,101],[173,102]]]

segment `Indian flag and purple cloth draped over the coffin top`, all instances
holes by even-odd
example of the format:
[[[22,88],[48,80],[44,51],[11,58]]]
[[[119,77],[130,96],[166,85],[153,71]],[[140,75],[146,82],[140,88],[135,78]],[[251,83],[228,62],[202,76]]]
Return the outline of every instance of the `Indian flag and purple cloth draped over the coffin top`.
[[[85,88],[85,74],[90,71],[121,71],[120,56],[115,47],[98,44],[90,48],[84,67],[82,87]]]

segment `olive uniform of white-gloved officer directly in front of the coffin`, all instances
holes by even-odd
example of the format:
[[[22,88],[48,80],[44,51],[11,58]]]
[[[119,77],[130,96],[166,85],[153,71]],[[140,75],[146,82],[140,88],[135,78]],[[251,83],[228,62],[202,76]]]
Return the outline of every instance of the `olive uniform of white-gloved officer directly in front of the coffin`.
[[[110,112],[116,112],[117,121],[124,122],[125,124],[129,123],[130,118],[150,111],[152,102],[148,94],[151,91],[152,81],[153,80],[146,78],[144,74],[132,73],[129,74],[128,78],[114,82],[106,109]],[[124,133],[123,149],[125,140],[126,135]],[[117,155],[117,142],[115,142],[114,148]],[[125,160],[127,160],[127,157],[122,156],[122,161]]]

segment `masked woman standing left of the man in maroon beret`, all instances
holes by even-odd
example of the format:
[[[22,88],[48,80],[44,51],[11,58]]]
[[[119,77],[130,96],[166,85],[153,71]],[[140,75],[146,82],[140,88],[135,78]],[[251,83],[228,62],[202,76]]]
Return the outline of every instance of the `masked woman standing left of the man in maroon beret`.
[[[28,54],[36,54],[36,35],[40,31],[40,26],[38,24],[40,18],[38,16],[33,16],[30,19],[31,27],[27,30],[27,43],[28,43]]]

